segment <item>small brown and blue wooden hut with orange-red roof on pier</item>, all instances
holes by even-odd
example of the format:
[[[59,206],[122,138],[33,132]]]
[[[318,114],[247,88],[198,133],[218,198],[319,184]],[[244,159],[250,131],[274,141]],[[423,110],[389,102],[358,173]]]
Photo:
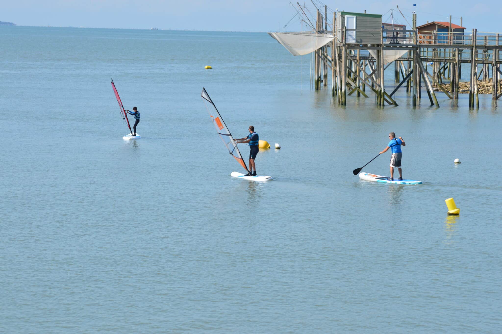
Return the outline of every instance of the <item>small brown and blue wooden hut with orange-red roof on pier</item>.
[[[449,43],[448,32],[450,32],[450,23],[442,21],[428,22],[417,27],[418,39],[423,44],[447,44]],[[453,33],[452,43],[462,44],[465,28],[456,24],[451,24]],[[424,41],[426,40],[426,41]],[[430,41],[429,41],[430,40]]]

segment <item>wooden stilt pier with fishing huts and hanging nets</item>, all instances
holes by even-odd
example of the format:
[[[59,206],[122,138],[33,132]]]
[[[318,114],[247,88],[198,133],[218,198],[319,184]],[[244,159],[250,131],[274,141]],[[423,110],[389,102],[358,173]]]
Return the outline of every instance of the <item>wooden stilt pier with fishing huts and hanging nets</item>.
[[[473,29],[466,35],[462,22],[453,25],[451,16],[449,22],[417,27],[415,13],[411,29],[383,23],[382,15],[367,13],[337,11],[328,22],[326,6],[324,13],[317,8],[315,20],[310,20],[297,5],[298,14],[306,19],[302,21],[312,31],[269,34],[293,55],[311,53],[313,89],[321,90],[331,81],[331,96],[340,105],[346,105],[347,96],[367,98],[372,92],[377,105],[398,106],[394,95],[404,86],[413,106],[422,98],[424,87],[430,104],[439,107],[436,93],[458,99],[462,64],[470,65],[469,107],[479,108],[478,80],[485,87],[491,84],[495,102],[502,96],[502,41],[498,33],[478,34]],[[396,85],[386,89],[385,71],[393,63]]]

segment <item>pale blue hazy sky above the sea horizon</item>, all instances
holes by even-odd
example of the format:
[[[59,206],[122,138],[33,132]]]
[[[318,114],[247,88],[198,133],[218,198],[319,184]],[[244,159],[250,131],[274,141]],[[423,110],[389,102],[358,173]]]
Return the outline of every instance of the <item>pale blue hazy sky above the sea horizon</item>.
[[[291,3],[296,5],[296,1]],[[317,0],[302,0],[306,12],[315,13],[312,3],[321,7]],[[326,1],[326,0],[324,0]],[[298,17],[284,26],[296,14],[289,0],[4,0],[0,21],[23,26],[86,27],[86,28],[133,28],[207,31],[300,31]],[[427,21],[449,21],[460,24],[467,30],[502,33],[502,5],[499,0],[475,3],[458,1],[401,1],[381,2],[360,0],[357,2],[324,2],[328,6],[328,18],[333,11],[364,12],[384,15],[397,10],[396,5],[409,23],[414,10],[418,25]],[[413,7],[416,4],[417,7]],[[331,9],[331,14],[330,13]],[[407,24],[399,12],[394,12],[395,23]],[[397,22],[396,22],[397,21]],[[408,25],[408,24],[407,24]],[[305,29],[307,30],[307,29]]]

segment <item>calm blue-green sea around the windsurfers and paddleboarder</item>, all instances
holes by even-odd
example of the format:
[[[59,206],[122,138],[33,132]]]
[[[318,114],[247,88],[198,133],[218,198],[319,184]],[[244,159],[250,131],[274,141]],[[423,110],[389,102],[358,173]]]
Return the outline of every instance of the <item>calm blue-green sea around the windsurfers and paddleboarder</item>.
[[[0,332],[502,330],[491,95],[478,110],[425,92],[413,108],[404,89],[399,107],[337,106],[309,90],[310,57],[265,33],[2,27],[0,41]],[[110,78],[141,140],[122,140]],[[235,137],[254,125],[282,145],[256,160],[274,181],[230,176],[202,87]],[[391,131],[423,184],[352,175]],[[363,171],[389,175],[390,156]]]

